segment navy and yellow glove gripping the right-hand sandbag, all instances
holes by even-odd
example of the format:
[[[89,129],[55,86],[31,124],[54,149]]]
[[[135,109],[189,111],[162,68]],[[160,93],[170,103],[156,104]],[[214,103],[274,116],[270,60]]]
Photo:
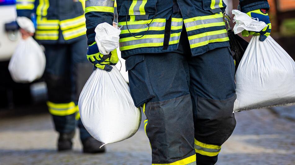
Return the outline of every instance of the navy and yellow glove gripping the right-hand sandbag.
[[[270,35],[270,30],[271,30],[271,23],[270,23],[270,17],[268,16],[267,12],[265,9],[258,9],[258,10],[254,10],[254,11],[249,11],[247,12],[247,15],[249,15],[252,18],[258,18],[258,21],[263,21],[267,24],[267,27],[265,27],[264,29],[262,29],[260,32],[252,32],[252,31],[247,31],[247,30],[243,30],[242,32],[242,36],[247,37],[250,35],[254,35],[254,36],[259,36],[259,40],[260,41],[264,41],[266,39],[267,36]]]

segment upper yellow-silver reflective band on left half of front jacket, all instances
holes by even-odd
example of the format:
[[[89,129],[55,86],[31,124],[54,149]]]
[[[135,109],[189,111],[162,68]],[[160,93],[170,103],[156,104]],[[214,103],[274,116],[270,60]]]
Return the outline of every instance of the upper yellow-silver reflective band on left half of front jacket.
[[[128,29],[131,33],[138,33],[149,30],[165,30],[166,25],[166,19],[154,19],[153,22],[150,24],[149,28],[147,26],[147,23],[150,23],[151,20],[141,20],[141,21],[129,21],[128,23]],[[120,25],[122,25],[121,28],[121,34],[129,33],[126,22],[120,22]],[[182,29],[182,19],[180,18],[172,18],[171,23],[171,30],[178,30]]]

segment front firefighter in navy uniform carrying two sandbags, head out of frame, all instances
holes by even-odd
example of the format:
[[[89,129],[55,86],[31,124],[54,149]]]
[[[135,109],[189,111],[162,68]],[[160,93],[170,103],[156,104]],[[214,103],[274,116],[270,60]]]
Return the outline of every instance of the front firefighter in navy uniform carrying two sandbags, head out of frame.
[[[217,162],[236,121],[234,60],[223,21],[222,0],[117,0],[120,51],[126,59],[136,107],[143,106],[152,164]],[[102,55],[94,37],[100,23],[113,23],[114,0],[87,0],[87,57],[111,71],[116,52]],[[267,0],[240,0],[240,9],[268,26]]]

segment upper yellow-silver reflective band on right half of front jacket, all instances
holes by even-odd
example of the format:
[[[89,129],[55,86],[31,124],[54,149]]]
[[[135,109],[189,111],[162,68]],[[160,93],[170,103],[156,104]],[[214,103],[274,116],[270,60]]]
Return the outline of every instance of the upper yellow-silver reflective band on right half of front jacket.
[[[184,24],[185,24],[187,32],[192,30],[197,30],[200,28],[225,26],[225,22],[223,21],[222,14],[207,15],[207,16],[184,19]]]

